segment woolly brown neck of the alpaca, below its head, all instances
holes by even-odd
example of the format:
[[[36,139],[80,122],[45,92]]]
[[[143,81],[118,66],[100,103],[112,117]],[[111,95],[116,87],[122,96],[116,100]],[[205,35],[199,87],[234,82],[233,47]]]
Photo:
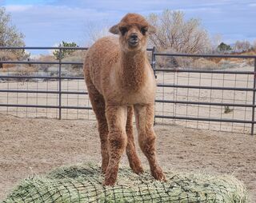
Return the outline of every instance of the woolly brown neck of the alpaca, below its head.
[[[122,52],[121,54],[122,87],[136,91],[145,81],[146,51]]]

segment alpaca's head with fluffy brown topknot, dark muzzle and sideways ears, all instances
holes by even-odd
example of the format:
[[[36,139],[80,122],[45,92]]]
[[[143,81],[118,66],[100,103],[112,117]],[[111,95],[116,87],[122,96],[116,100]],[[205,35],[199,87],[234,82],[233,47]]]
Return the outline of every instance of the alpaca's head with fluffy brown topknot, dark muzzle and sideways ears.
[[[110,28],[110,33],[119,34],[120,47],[126,52],[146,50],[148,35],[155,31],[140,14],[126,14],[121,22]]]

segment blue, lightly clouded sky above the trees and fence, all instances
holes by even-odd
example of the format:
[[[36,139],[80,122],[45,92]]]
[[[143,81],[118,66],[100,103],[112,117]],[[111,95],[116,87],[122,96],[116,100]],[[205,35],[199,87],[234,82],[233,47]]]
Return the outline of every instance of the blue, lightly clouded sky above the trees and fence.
[[[161,14],[182,10],[199,18],[210,36],[222,41],[256,40],[256,0],[0,0],[12,22],[26,35],[26,46],[76,42],[86,46],[92,27],[112,26],[126,13]]]

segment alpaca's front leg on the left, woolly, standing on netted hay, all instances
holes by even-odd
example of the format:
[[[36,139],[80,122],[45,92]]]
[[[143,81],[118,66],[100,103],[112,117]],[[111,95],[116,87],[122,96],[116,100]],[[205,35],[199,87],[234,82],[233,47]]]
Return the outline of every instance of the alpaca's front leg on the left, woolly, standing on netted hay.
[[[109,165],[106,169],[105,181],[103,185],[114,185],[118,177],[118,165],[126,149],[126,106],[107,106],[106,119],[108,123],[109,135]]]

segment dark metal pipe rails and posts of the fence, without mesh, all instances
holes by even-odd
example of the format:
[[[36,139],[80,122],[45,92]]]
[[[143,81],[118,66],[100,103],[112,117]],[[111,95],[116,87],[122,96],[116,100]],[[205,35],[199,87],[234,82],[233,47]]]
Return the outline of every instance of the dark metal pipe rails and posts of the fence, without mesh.
[[[59,56],[62,54],[62,50],[88,50],[86,47],[2,47],[0,46],[0,50],[59,50]],[[230,118],[223,118],[223,117],[193,117],[193,116],[181,116],[181,115],[166,115],[164,109],[162,110],[162,114],[156,113],[155,119],[171,119],[171,120],[186,120],[186,121],[213,121],[213,122],[227,122],[227,123],[242,123],[242,124],[250,124],[250,133],[254,134],[254,114],[255,114],[255,92],[256,92],[256,56],[252,55],[234,55],[234,54],[166,54],[166,53],[158,53],[156,52],[155,48],[147,49],[148,52],[151,53],[151,66],[154,70],[154,74],[157,78],[159,73],[170,73],[172,76],[174,74],[209,74],[215,75],[223,75],[223,81],[225,74],[234,75],[234,77],[245,75],[253,77],[253,86],[249,87],[236,87],[236,86],[203,86],[203,85],[180,85],[173,83],[166,83],[166,82],[158,82],[158,88],[162,88],[162,90],[166,90],[167,88],[176,90],[176,94],[178,90],[222,90],[222,94],[224,91],[242,91],[245,94],[247,92],[252,93],[252,101],[250,104],[247,102],[245,103],[238,103],[238,102],[202,102],[202,101],[184,101],[179,99],[159,99],[156,98],[156,104],[173,104],[173,105],[186,105],[186,108],[190,105],[198,105],[198,108],[201,106],[233,106],[238,108],[250,108],[251,110],[251,119],[230,119]],[[242,59],[253,59],[254,60],[254,70],[194,70],[193,68],[187,67],[186,69],[176,69],[176,68],[157,68],[158,58],[161,57],[178,57],[178,58],[242,58]],[[50,94],[58,96],[58,104],[56,105],[31,105],[31,104],[12,104],[12,103],[2,103],[0,100],[0,107],[17,107],[17,108],[41,108],[41,109],[58,109],[58,118],[62,119],[62,109],[92,109],[90,106],[81,106],[81,105],[63,105],[62,98],[64,95],[88,95],[88,93],[84,90],[63,90],[62,82],[63,81],[82,81],[84,78],[82,76],[63,76],[63,66],[82,66],[82,62],[63,62],[62,58],[59,57],[58,60],[54,62],[41,62],[41,61],[0,61],[0,64],[6,65],[53,65],[58,66],[57,76],[30,76],[30,75],[10,75],[10,74],[1,74],[0,73],[0,82],[2,81],[15,81],[15,80],[46,80],[46,81],[56,81],[58,82],[58,90],[19,90],[14,88],[7,88],[2,89],[0,86],[0,94]],[[190,76],[187,76],[188,78]],[[201,79],[201,78],[199,78]],[[247,83],[248,84],[248,83]],[[1,83],[0,83],[1,85]],[[1,99],[1,97],[0,97]],[[8,100],[8,99],[7,99]],[[199,111],[199,110],[198,110]]]

